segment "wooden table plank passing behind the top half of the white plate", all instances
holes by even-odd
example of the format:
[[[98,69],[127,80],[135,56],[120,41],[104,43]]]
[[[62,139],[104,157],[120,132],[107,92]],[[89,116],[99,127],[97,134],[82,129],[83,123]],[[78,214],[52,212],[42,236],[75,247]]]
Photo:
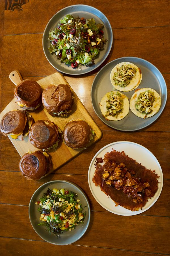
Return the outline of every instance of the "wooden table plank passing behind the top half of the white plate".
[[[2,135],[0,135],[0,138]],[[146,140],[148,138],[148,140]],[[90,146],[81,154],[61,167],[57,172],[64,173],[69,170],[70,174],[80,174],[80,166],[83,166],[84,174],[87,174],[90,162],[94,155],[103,146],[115,141],[132,141],[150,150],[158,159],[163,170],[165,179],[169,178],[169,159],[170,159],[170,133],[161,132],[121,132],[121,131],[103,131],[103,137],[100,141]],[[159,148],[159,150],[158,150]],[[1,138],[0,144],[1,152],[5,154],[0,155],[1,170],[18,171],[20,157],[17,152],[13,150],[12,143],[7,137]],[[10,159],[10,161],[9,161]],[[14,161],[12,162],[11,159]],[[74,163],[74,164],[73,164]]]

